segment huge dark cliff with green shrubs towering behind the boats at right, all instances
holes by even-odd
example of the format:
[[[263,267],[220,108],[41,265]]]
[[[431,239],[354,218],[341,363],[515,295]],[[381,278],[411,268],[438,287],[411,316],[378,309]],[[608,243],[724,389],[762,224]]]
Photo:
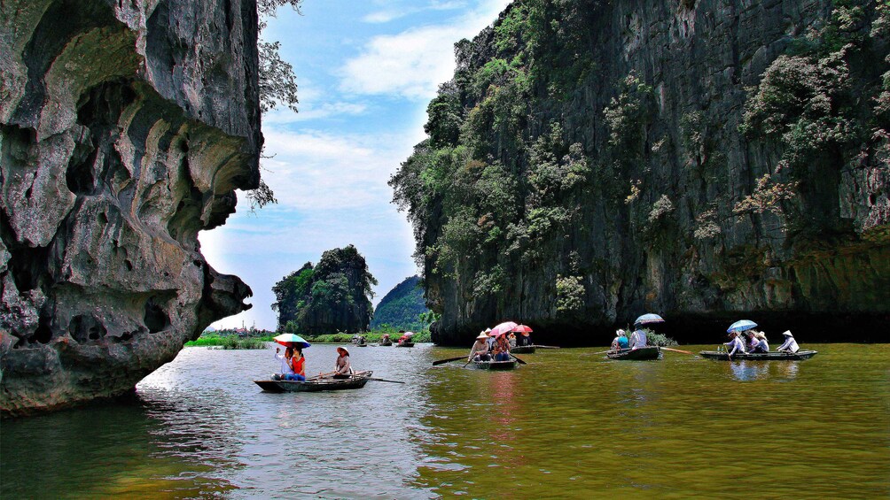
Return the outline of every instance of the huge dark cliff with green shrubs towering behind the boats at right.
[[[434,339],[886,321],[888,28],[867,0],[511,4],[391,180]]]

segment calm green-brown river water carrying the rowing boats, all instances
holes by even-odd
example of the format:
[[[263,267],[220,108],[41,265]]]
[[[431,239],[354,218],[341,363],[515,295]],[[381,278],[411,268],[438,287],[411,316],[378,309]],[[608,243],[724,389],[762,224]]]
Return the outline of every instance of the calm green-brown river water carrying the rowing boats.
[[[820,353],[539,350],[485,372],[432,366],[465,350],[351,347],[357,369],[408,384],[274,394],[252,382],[274,349],[190,347],[132,402],[3,421],[0,496],[890,496],[890,345],[804,348]],[[309,374],[336,358],[305,353]]]

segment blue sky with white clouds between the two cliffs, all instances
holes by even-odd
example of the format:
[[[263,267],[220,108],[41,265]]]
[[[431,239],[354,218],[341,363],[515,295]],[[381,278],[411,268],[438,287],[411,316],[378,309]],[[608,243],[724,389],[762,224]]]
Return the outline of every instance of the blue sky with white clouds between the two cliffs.
[[[215,328],[274,329],[271,287],[321,252],[354,244],[387,291],[417,274],[414,239],[386,182],[424,139],[426,105],[454,71],[453,45],[509,0],[305,0],[280,9],[263,38],[294,66],[299,113],[263,116],[263,179],[279,203],[199,235],[214,268],[236,274],[252,309]],[[239,193],[243,200],[243,194]]]

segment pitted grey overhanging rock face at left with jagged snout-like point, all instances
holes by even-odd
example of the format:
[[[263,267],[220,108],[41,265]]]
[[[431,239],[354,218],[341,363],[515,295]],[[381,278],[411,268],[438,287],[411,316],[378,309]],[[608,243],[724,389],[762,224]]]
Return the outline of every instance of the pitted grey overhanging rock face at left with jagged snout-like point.
[[[0,5],[0,408],[126,393],[249,306],[198,231],[259,183],[254,0]]]

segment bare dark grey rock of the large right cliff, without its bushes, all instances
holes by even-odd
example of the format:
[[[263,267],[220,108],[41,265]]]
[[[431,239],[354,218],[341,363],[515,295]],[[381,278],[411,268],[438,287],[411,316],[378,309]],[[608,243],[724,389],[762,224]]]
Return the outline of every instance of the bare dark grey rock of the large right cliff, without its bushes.
[[[570,4],[578,3],[584,2]],[[549,123],[559,123],[565,142],[579,143],[599,170],[596,180],[576,195],[579,210],[570,227],[549,235],[538,249],[545,258],[517,262],[503,249],[481,252],[467,256],[451,275],[434,273],[426,258],[426,297],[442,313],[433,339],[466,344],[479,329],[514,320],[535,325],[552,342],[604,345],[611,340],[609,327],[624,326],[645,312],[664,314],[673,327],[668,332],[681,340],[714,338],[719,325],[740,317],[764,322],[773,334],[799,328],[824,334],[837,327],[831,334],[837,340],[848,338],[851,327],[886,324],[886,157],[871,155],[861,165],[829,156],[813,163],[800,176],[800,193],[786,202],[798,221],[810,219],[809,233],[789,229],[787,220],[769,211],[732,213],[733,204],[755,189],[756,179],[775,171],[784,152],[773,139],[740,133],[747,91],[792,40],[825,25],[832,2],[587,4],[589,9],[580,9],[587,16],[584,31],[574,33],[585,48],[573,57],[590,60],[592,69],[562,96],[536,88],[522,134],[529,144]],[[495,30],[484,30],[473,40],[477,59],[470,64],[482,67],[493,58],[494,44]],[[869,57],[884,64],[886,40],[876,44]],[[863,67],[869,70],[868,64]],[[616,155],[607,145],[610,128],[603,118],[627,75],[652,88],[639,158]],[[467,111],[476,104],[463,103]],[[867,110],[873,102],[856,106]],[[496,131],[484,139],[490,157],[512,165],[514,172],[528,167],[521,157],[526,153],[517,159],[511,150],[511,138]],[[626,202],[635,183],[641,192]],[[671,202],[670,210],[652,219],[662,196]],[[711,208],[719,231],[694,237],[697,218]],[[425,224],[421,244],[432,245],[444,221],[431,218]],[[494,264],[508,270],[509,279],[503,291],[480,296],[473,277]],[[580,287],[583,306],[570,313],[558,307],[561,276],[577,279]],[[591,337],[595,331],[603,332],[602,338]],[[864,328],[854,337],[888,338]]]

